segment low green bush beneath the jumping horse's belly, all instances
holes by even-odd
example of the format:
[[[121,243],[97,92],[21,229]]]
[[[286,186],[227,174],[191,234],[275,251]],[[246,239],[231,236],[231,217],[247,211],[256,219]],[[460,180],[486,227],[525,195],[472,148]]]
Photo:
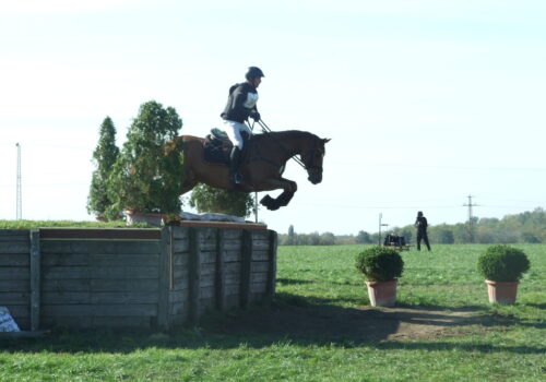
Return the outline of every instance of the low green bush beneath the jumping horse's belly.
[[[253,211],[254,199],[250,193],[198,184],[191,192],[190,205],[200,213],[214,212],[246,217]]]

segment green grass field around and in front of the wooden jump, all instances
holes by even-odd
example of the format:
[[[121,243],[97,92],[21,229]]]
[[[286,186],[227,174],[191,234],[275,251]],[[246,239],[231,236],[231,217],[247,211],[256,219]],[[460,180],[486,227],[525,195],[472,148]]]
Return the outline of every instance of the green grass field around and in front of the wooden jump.
[[[395,309],[371,309],[346,247],[280,247],[271,306],[170,335],[55,332],[0,341],[0,381],[544,381],[546,244],[515,306],[490,306],[486,246],[404,252]]]

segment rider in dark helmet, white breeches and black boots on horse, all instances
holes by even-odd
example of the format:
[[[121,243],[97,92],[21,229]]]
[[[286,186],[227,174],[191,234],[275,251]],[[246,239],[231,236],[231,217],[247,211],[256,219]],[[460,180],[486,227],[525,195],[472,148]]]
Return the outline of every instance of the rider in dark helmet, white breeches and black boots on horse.
[[[235,84],[229,88],[227,105],[221,115],[222,119],[224,119],[226,133],[234,144],[229,164],[229,178],[235,184],[242,182],[242,176],[239,174],[242,147],[245,141],[252,135],[252,131],[245,124],[245,121],[249,117],[257,122],[260,120],[260,114],[256,107],[258,102],[257,88],[263,76],[260,68],[248,68],[245,75],[247,81]]]

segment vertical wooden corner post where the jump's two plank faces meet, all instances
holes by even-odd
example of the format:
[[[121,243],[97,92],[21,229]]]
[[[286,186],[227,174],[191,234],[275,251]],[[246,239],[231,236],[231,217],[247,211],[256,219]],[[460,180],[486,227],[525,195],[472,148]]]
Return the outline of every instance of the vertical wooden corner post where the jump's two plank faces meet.
[[[162,239],[159,242],[159,289],[157,298],[157,325],[162,329],[169,329],[169,285],[170,285],[170,246],[171,246],[171,227],[162,229]]]

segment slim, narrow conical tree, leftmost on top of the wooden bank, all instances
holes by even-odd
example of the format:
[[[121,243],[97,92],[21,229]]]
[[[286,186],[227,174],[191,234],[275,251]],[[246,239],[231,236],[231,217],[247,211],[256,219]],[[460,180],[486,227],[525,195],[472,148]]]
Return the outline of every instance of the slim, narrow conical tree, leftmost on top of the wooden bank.
[[[108,196],[107,181],[111,175],[114,164],[118,159],[119,148],[116,146],[116,128],[110,117],[106,117],[100,124],[98,144],[93,152],[93,164],[96,169],[91,179],[90,194],[87,196],[87,213],[100,217],[119,216],[120,208],[112,207]]]

